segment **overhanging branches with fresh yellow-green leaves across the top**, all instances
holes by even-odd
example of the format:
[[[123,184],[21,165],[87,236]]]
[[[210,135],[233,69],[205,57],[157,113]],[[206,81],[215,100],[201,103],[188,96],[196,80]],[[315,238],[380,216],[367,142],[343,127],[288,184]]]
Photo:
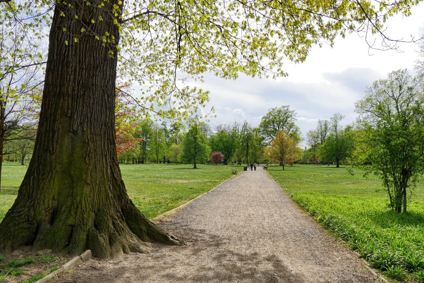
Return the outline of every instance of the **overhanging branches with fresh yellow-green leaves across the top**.
[[[408,16],[419,1],[119,0],[110,13],[120,38],[95,28],[106,20],[98,12],[106,2],[61,2],[60,16],[79,20],[61,27],[63,44],[72,47],[91,36],[105,48],[117,45],[118,72],[142,87],[139,104],[145,113],[156,109],[182,120],[209,101],[209,91],[187,79],[202,81],[206,72],[226,79],[240,73],[286,76],[285,62],[303,62],[313,45],[332,46],[336,36],[351,32],[364,34],[371,48],[377,48],[375,34],[383,48],[396,48],[400,39],[388,38],[384,23],[397,13]],[[27,11],[36,30],[49,24],[54,3],[38,0],[9,9]],[[116,55],[112,49],[108,56]]]

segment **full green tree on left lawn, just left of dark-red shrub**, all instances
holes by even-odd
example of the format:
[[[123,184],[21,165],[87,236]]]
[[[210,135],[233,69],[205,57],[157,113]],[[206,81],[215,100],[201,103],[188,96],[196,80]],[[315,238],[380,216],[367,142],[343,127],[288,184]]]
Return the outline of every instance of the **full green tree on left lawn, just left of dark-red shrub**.
[[[200,126],[193,124],[183,140],[183,152],[181,160],[189,164],[193,163],[193,168],[197,168],[197,163],[208,160],[211,148],[208,145],[208,139],[201,133]]]

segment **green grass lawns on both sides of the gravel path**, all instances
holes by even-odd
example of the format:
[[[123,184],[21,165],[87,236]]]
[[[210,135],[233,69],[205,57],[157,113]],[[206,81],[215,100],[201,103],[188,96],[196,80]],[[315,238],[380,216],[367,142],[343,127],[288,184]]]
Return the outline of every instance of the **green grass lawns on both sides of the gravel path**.
[[[134,204],[150,219],[211,190],[242,166],[121,164]],[[5,163],[0,220],[12,205],[26,166]],[[424,282],[424,183],[412,192],[407,214],[388,208],[381,181],[346,168],[269,166],[268,173],[303,208],[358,251],[371,266],[398,280]]]

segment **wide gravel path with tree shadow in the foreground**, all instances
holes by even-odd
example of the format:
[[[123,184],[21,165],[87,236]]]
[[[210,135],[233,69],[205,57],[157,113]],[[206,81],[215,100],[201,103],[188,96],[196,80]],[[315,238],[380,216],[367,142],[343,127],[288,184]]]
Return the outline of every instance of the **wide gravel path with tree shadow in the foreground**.
[[[267,173],[243,171],[158,225],[187,246],[89,260],[55,282],[382,282]]]

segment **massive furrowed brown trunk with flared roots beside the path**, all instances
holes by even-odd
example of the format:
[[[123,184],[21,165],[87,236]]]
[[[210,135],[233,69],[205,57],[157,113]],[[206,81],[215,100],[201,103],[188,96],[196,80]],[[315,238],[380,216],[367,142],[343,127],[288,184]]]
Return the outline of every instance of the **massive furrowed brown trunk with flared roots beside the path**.
[[[114,133],[118,1],[69,3],[55,7],[35,149],[0,224],[0,251],[91,249],[107,258],[147,251],[152,240],[178,244],[140,213],[121,178]],[[83,26],[89,30],[81,34]],[[107,33],[114,42],[102,46],[95,35]]]

